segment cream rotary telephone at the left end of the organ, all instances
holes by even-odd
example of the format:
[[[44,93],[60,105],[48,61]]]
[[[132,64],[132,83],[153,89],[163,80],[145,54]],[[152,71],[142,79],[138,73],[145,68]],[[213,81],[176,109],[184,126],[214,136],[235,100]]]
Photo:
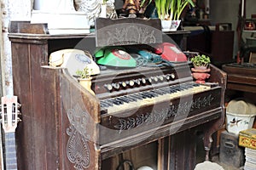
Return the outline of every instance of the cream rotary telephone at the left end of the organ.
[[[61,49],[49,54],[49,65],[65,67],[72,76],[76,75],[76,71],[83,70],[85,66],[89,67],[91,75],[100,73],[100,68],[90,53],[79,49]]]

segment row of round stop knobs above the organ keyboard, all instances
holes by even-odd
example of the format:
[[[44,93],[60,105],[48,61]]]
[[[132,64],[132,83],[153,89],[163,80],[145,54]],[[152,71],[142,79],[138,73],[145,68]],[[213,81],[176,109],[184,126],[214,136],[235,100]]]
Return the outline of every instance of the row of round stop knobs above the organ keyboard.
[[[175,75],[172,74],[166,74],[163,76],[156,76],[156,77],[148,77],[148,78],[138,78],[130,81],[125,82],[113,82],[109,84],[105,84],[105,88],[107,88],[109,91],[112,91],[113,89],[119,90],[119,88],[126,88],[126,87],[135,87],[135,86],[141,86],[151,83],[157,83],[157,82],[163,82],[163,81],[171,81],[175,79]]]

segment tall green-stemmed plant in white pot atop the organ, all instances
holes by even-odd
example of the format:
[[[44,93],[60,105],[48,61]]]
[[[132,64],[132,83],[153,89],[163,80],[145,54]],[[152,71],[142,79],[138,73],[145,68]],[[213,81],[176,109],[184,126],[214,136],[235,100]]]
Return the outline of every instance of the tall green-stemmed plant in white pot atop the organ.
[[[142,0],[141,6],[145,6],[145,3],[152,3],[152,0]],[[187,5],[195,7],[193,0],[154,0],[154,5],[157,10],[158,17],[160,20],[171,20],[171,26],[169,27],[172,31],[176,31],[180,24],[180,15]],[[166,21],[162,22],[165,25]],[[165,29],[165,28],[164,28]]]

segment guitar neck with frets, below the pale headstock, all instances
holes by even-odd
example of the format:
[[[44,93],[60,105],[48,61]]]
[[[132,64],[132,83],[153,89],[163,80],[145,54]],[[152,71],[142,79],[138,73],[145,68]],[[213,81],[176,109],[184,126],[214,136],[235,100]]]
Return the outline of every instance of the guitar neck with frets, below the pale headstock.
[[[6,170],[15,170],[17,168],[17,155],[15,144],[15,132],[5,133],[5,166]]]

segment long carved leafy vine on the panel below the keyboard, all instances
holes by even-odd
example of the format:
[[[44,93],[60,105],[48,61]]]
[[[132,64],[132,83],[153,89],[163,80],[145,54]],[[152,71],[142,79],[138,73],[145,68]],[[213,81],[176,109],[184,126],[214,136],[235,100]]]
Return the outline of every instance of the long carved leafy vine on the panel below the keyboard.
[[[119,118],[119,123],[114,127],[122,133],[124,130],[129,130],[131,128],[146,126],[154,123],[162,123],[165,120],[171,118],[172,116],[187,116],[189,111],[194,111],[195,109],[201,109],[211,105],[213,100],[212,94],[204,98],[196,98],[191,102],[184,102],[178,105],[170,105],[169,108],[154,110],[145,114],[139,114],[136,117]]]

